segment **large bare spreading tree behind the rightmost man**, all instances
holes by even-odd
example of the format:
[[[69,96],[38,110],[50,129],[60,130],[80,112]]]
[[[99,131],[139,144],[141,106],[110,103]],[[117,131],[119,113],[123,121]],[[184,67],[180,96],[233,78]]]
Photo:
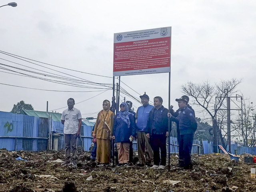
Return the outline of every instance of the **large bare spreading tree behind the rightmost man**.
[[[232,78],[231,80],[220,80],[220,82],[214,85],[210,84],[210,81],[204,81],[202,83],[195,84],[193,82],[187,82],[182,84],[182,92],[193,98],[192,102],[206,110],[212,118],[213,136],[214,136],[214,152],[217,152],[217,133],[222,140],[222,145],[226,148],[226,142],[222,136],[221,130],[216,120],[216,114],[220,107],[223,105],[225,98],[237,92],[236,87],[242,80]],[[217,100],[215,98],[218,97]]]

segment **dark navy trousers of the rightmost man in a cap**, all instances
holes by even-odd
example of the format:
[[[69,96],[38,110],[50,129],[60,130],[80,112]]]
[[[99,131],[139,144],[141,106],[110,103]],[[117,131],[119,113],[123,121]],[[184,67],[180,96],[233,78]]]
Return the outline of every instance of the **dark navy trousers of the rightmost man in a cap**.
[[[184,166],[191,165],[191,150],[193,146],[194,134],[180,135],[179,154],[180,160],[184,160]]]

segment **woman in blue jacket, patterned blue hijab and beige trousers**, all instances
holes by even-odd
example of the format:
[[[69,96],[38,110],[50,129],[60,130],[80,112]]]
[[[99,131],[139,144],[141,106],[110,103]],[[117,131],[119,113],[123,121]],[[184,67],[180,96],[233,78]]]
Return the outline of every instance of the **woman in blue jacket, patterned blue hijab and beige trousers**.
[[[116,114],[112,138],[116,141],[118,151],[118,166],[128,166],[130,142],[136,135],[133,115],[128,112],[125,102],[120,104],[120,112]]]

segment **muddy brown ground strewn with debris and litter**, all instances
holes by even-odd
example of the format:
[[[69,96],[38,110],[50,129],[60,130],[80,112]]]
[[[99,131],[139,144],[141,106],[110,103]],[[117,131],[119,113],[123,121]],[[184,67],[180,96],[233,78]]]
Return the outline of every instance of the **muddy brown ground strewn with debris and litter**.
[[[21,157],[28,161],[15,160]],[[90,154],[79,153],[78,167],[62,167],[64,151],[0,150],[0,191],[6,192],[256,192],[250,168],[225,154],[193,154],[194,169],[178,168],[171,155],[170,172],[145,167],[87,166]],[[56,162],[57,160],[57,162]],[[54,162],[55,161],[55,162]]]

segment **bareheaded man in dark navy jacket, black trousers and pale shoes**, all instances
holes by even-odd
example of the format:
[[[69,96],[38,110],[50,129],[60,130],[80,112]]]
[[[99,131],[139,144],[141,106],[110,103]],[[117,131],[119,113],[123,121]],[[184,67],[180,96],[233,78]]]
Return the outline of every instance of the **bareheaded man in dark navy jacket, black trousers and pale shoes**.
[[[146,136],[150,138],[150,145],[154,152],[154,165],[151,168],[164,169],[166,166],[166,137],[168,137],[168,109],[162,106],[163,99],[154,98],[154,108],[148,116]],[[159,149],[161,150],[161,163]],[[160,166],[159,166],[160,164]]]

